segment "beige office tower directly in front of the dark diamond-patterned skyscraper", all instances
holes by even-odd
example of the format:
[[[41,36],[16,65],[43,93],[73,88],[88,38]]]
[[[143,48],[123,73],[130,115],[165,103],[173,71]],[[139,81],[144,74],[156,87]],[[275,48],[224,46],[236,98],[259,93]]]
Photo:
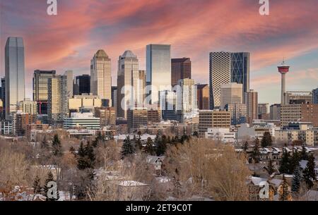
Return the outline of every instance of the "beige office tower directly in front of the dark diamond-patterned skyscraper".
[[[242,84],[228,83],[220,85],[220,108],[223,109],[226,104],[242,104],[242,94]]]

